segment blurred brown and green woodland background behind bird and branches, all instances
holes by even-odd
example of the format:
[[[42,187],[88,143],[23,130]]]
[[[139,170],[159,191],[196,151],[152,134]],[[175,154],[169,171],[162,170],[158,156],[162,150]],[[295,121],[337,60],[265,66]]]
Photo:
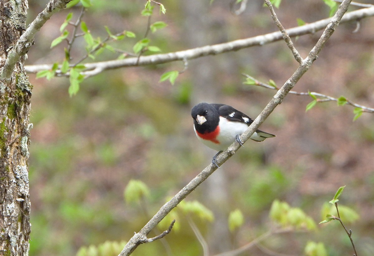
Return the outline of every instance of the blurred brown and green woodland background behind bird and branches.
[[[29,2],[29,22],[46,3]],[[92,3],[83,20],[93,37],[106,37],[104,25],[113,34],[132,31],[136,38],[112,43],[131,52],[147,28],[147,18],[140,15],[145,1]],[[239,16],[224,0],[162,4],[166,15],[159,15],[156,6],[151,22],[164,21],[168,26],[148,37],[163,53],[278,30],[263,1],[248,1]],[[52,16],[36,35],[27,65],[62,62],[66,44],[50,49],[50,43],[60,35],[59,27],[69,12],[75,21],[80,7]],[[327,18],[329,7],[322,0],[283,0],[276,13],[290,28],[297,26],[297,18],[307,23]],[[361,20],[360,25],[352,33],[356,22],[341,24],[294,90],[343,95],[373,107],[373,18]],[[302,57],[321,33],[293,38]],[[83,38],[77,38],[73,60],[85,53]],[[96,60],[117,57],[104,51]],[[255,118],[275,91],[245,85],[241,74],[263,82],[273,79],[280,87],[297,66],[286,44],[279,41],[189,60],[174,85],[159,82],[160,75],[182,70],[183,62],[105,71],[86,79],[73,97],[68,94],[68,78],[48,81],[29,74],[34,85],[30,255],[75,255],[82,246],[127,241],[216,153],[196,139],[191,107],[199,102],[225,103]],[[336,102],[318,103],[306,112],[311,101],[309,96],[289,94],[261,126],[277,137],[263,143],[248,141],[187,197],[210,209],[214,220],[179,214],[178,228],[164,241],[141,245],[133,255],[202,255],[188,224],[191,218],[208,243],[209,255],[236,249],[272,229],[269,209],[276,199],[300,207],[318,223],[324,219],[324,203],[343,185],[339,203],[359,215],[353,223],[347,220],[358,253],[374,255],[373,115],[364,113],[353,122],[353,107]],[[128,204],[123,191],[132,179],[144,182],[151,193],[140,203]],[[234,209],[243,213],[244,224],[230,232],[227,218]],[[310,240],[323,242],[331,256],[353,254],[343,228],[333,221],[317,225],[315,231],[272,235],[241,255],[303,255]]]

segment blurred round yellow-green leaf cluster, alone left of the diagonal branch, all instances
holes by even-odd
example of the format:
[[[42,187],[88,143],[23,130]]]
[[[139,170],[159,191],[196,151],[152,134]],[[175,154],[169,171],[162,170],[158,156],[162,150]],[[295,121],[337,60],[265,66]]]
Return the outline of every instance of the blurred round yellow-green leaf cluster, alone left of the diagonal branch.
[[[131,179],[123,191],[126,203],[139,203],[143,198],[148,198],[150,194],[148,186],[138,179]]]

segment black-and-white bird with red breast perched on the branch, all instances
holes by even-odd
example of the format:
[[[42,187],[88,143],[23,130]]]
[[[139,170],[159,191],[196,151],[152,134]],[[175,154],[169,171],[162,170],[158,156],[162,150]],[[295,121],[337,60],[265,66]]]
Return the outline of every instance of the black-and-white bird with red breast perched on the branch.
[[[216,157],[235,140],[243,146],[239,136],[253,122],[249,116],[226,104],[199,103],[191,109],[191,116],[196,137],[205,146],[218,151],[212,159],[218,168]],[[261,142],[272,137],[275,135],[256,130],[250,139]]]

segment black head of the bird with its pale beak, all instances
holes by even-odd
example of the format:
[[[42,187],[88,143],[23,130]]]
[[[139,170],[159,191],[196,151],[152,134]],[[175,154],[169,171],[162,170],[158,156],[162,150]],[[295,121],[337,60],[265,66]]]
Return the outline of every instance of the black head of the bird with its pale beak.
[[[220,122],[220,115],[214,106],[208,103],[199,103],[191,109],[191,116],[195,129],[199,132],[214,131]]]

